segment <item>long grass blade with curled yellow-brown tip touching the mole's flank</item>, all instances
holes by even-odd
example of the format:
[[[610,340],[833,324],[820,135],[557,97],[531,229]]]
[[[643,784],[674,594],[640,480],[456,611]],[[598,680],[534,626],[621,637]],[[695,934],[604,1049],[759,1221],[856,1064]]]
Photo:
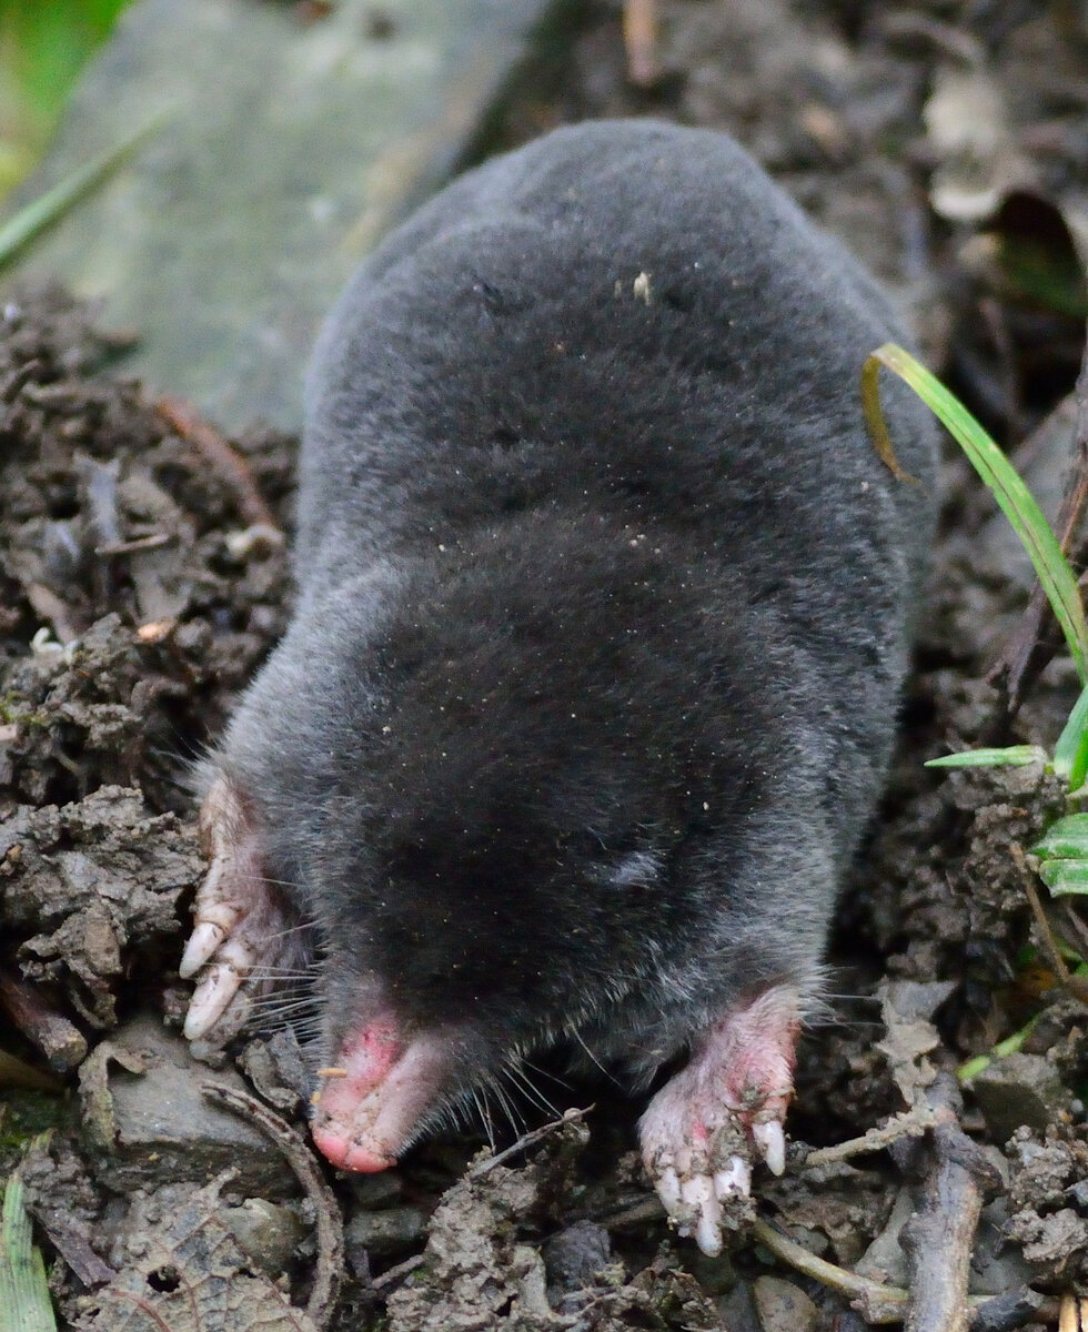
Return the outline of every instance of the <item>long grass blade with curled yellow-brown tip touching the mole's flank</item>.
[[[1076,578],[1069,569],[1051,525],[1020,480],[1019,473],[997,445],[983,430],[963,404],[902,346],[886,342],[866,360],[862,370],[862,406],[872,436],[874,448],[896,476],[903,476],[895,462],[888,430],[880,410],[876,376],[879,366],[898,374],[940,420],[967,454],[968,461],[993,492],[997,503],[1016,530],[1028,558],[1035,566],[1047,599],[1053,607],[1081,685],[1088,685],[1088,622]]]

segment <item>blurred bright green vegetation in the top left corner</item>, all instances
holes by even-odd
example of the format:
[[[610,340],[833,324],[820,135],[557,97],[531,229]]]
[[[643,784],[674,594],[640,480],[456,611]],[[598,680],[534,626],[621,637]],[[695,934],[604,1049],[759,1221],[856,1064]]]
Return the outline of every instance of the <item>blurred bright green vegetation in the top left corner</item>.
[[[0,197],[35,165],[88,56],[132,0],[0,0]]]

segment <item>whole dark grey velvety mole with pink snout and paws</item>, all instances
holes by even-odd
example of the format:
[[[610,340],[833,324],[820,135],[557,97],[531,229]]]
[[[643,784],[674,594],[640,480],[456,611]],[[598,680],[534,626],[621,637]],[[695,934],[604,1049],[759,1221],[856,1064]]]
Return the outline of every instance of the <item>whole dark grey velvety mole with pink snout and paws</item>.
[[[270,935],[314,922],[336,1164],[570,1040],[634,1083],[690,1051],[642,1136],[706,1248],[743,1132],[780,1168],[931,534],[859,404],[899,336],[731,140],[661,124],[491,161],[364,264],[185,959],[189,1034],[221,1038],[238,979],[293,960]],[[926,410],[887,400],[928,481]]]

